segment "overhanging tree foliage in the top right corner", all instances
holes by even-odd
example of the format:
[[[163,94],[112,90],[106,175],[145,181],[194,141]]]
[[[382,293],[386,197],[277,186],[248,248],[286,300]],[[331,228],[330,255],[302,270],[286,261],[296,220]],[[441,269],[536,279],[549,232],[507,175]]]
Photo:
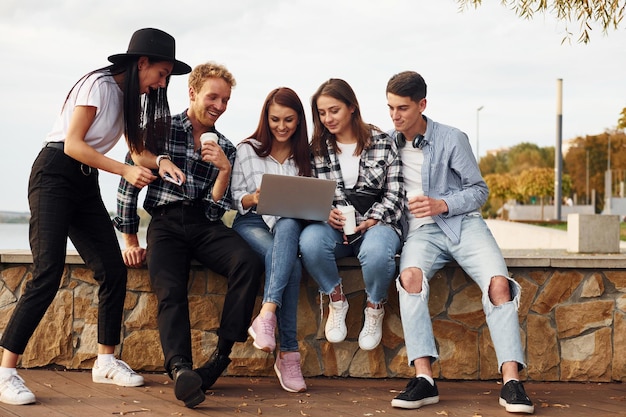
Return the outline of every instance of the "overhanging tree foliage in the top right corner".
[[[457,2],[461,9],[470,6],[478,8],[482,0],[457,0]],[[555,15],[557,20],[565,22],[564,41],[572,35],[568,23],[578,22],[580,25],[578,42],[582,43],[590,41],[589,32],[592,30],[592,24],[599,24],[605,34],[609,29],[617,29],[626,8],[626,0],[501,0],[500,4],[524,19],[532,19],[537,12]]]

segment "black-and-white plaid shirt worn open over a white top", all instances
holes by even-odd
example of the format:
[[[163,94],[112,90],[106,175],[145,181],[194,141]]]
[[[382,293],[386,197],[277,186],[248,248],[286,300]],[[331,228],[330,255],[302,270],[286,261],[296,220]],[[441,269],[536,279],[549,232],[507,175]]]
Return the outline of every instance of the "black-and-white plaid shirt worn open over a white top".
[[[337,181],[333,205],[350,204],[344,193],[345,184],[339,159],[332,145],[326,143],[328,155],[313,158],[313,175]],[[354,186],[359,189],[382,190],[380,202],[374,203],[364,216],[357,211],[357,224],[371,218],[391,226],[401,235],[400,218],[404,204],[404,180],[398,146],[388,134],[372,130],[371,145],[361,153],[359,177]]]

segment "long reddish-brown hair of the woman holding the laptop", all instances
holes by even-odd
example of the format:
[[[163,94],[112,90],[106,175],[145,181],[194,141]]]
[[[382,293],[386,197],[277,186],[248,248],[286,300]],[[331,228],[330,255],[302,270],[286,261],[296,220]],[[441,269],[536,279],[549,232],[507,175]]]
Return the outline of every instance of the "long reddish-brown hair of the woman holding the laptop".
[[[311,176],[311,160],[309,158],[309,137],[306,127],[306,117],[304,115],[304,106],[295,91],[288,87],[280,87],[272,90],[265,99],[259,124],[255,132],[250,135],[244,142],[250,142],[250,139],[256,139],[261,144],[254,147],[254,151],[260,157],[268,156],[272,151],[274,136],[269,125],[270,105],[277,104],[279,106],[289,107],[298,115],[298,125],[296,130],[289,138],[291,144],[291,154],[298,167],[298,175],[304,177]]]

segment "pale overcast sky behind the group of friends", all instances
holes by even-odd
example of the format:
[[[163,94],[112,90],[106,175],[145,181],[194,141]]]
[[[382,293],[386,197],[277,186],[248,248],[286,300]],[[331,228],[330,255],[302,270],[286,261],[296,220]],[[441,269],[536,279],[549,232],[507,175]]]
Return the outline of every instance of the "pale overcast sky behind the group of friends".
[[[237,87],[217,128],[235,144],[256,127],[270,90],[291,87],[310,109],[331,77],[350,83],[365,120],[387,130],[387,80],[408,69],[428,84],[426,114],[464,130],[481,155],[520,142],[554,146],[559,78],[564,141],[614,128],[626,107],[624,29],[595,28],[582,45],[572,23],[562,44],[564,23],[524,20],[499,3],[460,11],[453,0],[3,0],[0,210],[28,211],[30,168],[68,90],[142,27],[172,34],[177,58],[192,67],[216,61],[232,71]],[[169,101],[172,114],[186,109],[186,76],[172,78]],[[120,141],[109,156],[125,150]],[[109,210],[118,180],[101,174]]]

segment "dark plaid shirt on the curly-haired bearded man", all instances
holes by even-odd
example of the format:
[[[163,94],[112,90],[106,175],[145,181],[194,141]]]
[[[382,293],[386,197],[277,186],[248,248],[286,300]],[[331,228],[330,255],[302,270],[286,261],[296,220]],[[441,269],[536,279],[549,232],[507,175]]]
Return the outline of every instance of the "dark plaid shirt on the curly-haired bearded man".
[[[194,148],[193,128],[187,117],[187,111],[172,116],[171,137],[165,144],[166,153],[172,162],[180,168],[187,181],[181,186],[157,178],[148,186],[148,192],[143,207],[152,214],[155,207],[175,203],[183,200],[202,201],[205,205],[207,219],[220,220],[226,210],[231,209],[230,184],[219,201],[213,201],[211,191],[219,170],[211,163],[204,162],[199,149]],[[219,132],[218,144],[224,150],[230,164],[235,161],[236,148],[224,135]],[[132,160],[127,156],[127,163]],[[157,174],[158,175],[158,174]],[[117,217],[113,224],[122,233],[134,234],[139,230],[139,216],[137,215],[137,187],[124,178],[120,180],[117,189]]]

